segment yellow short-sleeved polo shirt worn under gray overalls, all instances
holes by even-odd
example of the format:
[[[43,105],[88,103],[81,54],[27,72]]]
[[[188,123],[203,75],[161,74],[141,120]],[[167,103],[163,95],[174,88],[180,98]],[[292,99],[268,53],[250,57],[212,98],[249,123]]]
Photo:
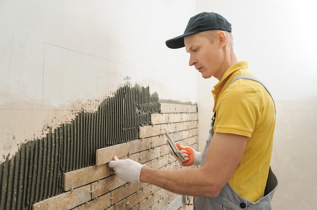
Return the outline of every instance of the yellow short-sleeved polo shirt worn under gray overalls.
[[[249,75],[246,61],[232,65],[212,90],[216,112],[214,132],[248,137],[239,165],[229,180],[241,197],[255,202],[263,197],[271,161],[275,127],[274,102],[259,82],[234,77]]]

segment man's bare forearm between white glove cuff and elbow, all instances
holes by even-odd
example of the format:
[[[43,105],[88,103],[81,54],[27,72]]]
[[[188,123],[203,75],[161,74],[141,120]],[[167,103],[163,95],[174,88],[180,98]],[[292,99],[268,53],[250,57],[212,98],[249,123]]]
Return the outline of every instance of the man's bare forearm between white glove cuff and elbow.
[[[215,197],[220,192],[219,186],[210,178],[206,177],[202,168],[169,171],[143,167],[140,174],[141,182],[150,183],[177,194]]]

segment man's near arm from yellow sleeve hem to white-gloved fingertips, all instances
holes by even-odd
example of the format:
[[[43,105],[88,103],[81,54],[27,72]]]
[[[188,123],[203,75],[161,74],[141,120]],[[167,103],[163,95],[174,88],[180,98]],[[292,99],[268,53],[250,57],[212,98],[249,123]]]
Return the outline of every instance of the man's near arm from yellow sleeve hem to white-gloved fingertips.
[[[205,165],[197,169],[153,169],[130,159],[119,160],[116,156],[109,167],[125,181],[146,182],[183,195],[215,197],[239,164],[246,142],[245,136],[215,133]]]

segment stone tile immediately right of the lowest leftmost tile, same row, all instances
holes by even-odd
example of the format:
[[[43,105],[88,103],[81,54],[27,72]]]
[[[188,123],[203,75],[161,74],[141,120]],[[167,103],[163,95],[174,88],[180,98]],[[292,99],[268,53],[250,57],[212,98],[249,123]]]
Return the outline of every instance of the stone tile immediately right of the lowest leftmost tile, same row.
[[[112,175],[100,181],[93,182],[91,183],[92,199],[123,186],[125,183],[125,181],[116,175]]]

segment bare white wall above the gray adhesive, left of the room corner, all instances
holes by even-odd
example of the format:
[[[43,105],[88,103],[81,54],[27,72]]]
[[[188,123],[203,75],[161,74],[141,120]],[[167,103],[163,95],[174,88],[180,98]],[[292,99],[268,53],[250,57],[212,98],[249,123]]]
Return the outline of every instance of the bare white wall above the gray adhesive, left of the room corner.
[[[165,45],[194,3],[0,1],[0,162],[127,83],[195,102],[187,55]]]

